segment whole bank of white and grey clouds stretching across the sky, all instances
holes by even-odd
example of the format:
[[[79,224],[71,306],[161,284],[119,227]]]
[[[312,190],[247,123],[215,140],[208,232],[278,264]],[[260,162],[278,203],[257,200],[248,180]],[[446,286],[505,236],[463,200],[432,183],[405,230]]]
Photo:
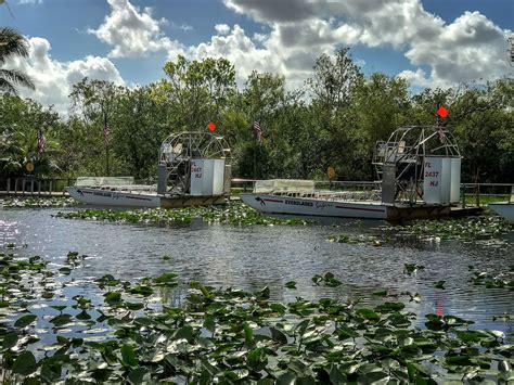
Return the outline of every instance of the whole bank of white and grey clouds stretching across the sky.
[[[446,23],[425,11],[421,0],[224,0],[227,8],[262,24],[267,33],[248,36],[239,24],[216,24],[208,41],[193,46],[166,36],[163,26],[169,22],[154,17],[150,8],[140,9],[129,0],[107,1],[110,14],[97,28],[88,29],[111,47],[107,57],[61,63],[50,56],[46,39],[30,39],[29,61],[17,65],[36,80],[38,89],[31,98],[62,111],[70,86],[81,76],[124,84],[111,60],[156,53],[169,60],[178,54],[198,60],[226,57],[235,65],[239,85],[257,69],[284,75],[290,87],[298,87],[320,54],[356,44],[401,52],[412,67],[398,76],[417,87],[512,74],[506,54],[511,30],[479,12],[464,12]]]

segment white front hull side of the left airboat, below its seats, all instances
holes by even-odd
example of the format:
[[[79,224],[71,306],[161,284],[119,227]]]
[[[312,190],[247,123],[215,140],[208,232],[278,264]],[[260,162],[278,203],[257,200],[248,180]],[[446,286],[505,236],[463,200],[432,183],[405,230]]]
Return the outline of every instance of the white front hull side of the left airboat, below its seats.
[[[73,198],[97,206],[160,207],[160,196],[89,188],[66,188]]]

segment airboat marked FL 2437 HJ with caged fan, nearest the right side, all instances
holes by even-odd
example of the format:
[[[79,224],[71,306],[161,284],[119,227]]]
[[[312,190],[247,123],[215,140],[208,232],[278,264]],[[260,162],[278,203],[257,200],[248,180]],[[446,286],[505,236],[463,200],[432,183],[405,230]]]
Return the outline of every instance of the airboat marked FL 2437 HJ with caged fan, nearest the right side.
[[[398,128],[373,153],[377,181],[367,191],[320,190],[314,181],[257,181],[247,205],[266,214],[300,217],[368,218],[401,221],[457,213],[461,154],[441,126]],[[471,209],[468,208],[466,213]]]

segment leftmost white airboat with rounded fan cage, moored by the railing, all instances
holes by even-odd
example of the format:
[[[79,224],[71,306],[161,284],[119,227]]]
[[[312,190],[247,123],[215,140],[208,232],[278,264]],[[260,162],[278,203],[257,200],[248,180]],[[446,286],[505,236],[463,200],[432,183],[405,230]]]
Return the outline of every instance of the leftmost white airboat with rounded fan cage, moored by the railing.
[[[162,143],[156,184],[134,184],[132,177],[82,177],[66,191],[95,206],[178,208],[223,203],[230,181],[227,141],[213,132],[188,131]]]

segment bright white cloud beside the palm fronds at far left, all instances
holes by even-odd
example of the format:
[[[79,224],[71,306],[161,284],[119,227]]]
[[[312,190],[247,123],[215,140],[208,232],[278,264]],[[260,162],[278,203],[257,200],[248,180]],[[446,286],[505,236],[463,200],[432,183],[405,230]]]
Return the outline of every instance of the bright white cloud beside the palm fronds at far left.
[[[69,106],[68,94],[74,84],[83,77],[111,80],[124,85],[116,66],[106,57],[86,56],[83,60],[62,63],[50,55],[50,42],[43,38],[30,38],[28,59],[12,57],[5,68],[17,68],[29,75],[36,90],[20,89],[23,97],[46,105],[54,105],[55,111],[66,114]]]

